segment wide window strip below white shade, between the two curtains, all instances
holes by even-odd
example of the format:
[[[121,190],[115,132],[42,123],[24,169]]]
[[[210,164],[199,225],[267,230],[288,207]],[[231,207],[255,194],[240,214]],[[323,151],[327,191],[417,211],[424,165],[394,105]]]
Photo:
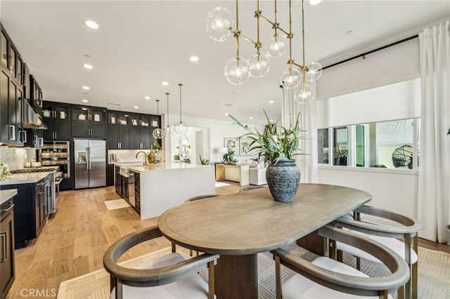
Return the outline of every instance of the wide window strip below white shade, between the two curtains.
[[[318,130],[319,164],[416,168],[420,119],[400,119]],[[333,151],[328,151],[333,140]]]

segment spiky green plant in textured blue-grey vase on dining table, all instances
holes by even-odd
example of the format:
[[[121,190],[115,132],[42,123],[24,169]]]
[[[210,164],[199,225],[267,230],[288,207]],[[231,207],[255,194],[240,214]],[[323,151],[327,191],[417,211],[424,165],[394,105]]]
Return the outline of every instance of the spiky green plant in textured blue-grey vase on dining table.
[[[258,153],[258,157],[264,156],[270,164],[266,169],[266,180],[272,197],[276,201],[293,201],[300,183],[300,168],[295,164],[294,157],[299,154],[299,140],[304,138],[300,129],[300,114],[297,114],[294,126],[285,128],[276,123],[272,124],[267,113],[263,110],[267,119],[264,131],[257,128],[251,129],[243,125],[236,117],[230,115],[238,126],[248,131],[241,137],[247,137],[250,142],[250,151]]]

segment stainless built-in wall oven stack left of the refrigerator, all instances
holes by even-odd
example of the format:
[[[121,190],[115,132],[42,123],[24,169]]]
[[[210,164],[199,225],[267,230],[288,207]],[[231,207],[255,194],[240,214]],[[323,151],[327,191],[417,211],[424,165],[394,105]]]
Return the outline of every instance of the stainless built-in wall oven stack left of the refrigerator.
[[[42,166],[59,166],[63,178],[70,178],[70,147],[68,141],[44,141],[39,150]]]

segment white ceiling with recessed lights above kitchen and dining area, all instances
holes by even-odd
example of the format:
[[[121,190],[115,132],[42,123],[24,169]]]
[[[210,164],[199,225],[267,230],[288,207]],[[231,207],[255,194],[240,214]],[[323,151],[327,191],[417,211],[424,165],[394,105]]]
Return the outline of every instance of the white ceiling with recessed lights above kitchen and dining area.
[[[127,112],[179,114],[179,86],[184,116],[263,123],[261,109],[280,116],[282,93],[279,77],[288,53],[271,60],[265,77],[241,86],[229,84],[224,65],[236,56],[236,39],[223,43],[207,36],[205,18],[215,6],[235,14],[235,1],[5,1],[0,2],[1,22],[18,47],[30,72],[41,86],[44,99],[108,107]],[[256,1],[239,2],[239,26],[256,39],[253,17]],[[260,1],[260,9],[274,19],[273,1]],[[288,1],[278,0],[278,22],[288,29]],[[301,62],[301,2],[293,1],[293,58]],[[317,6],[305,3],[306,60],[329,65],[333,58],[392,39],[418,33],[418,29],[449,18],[450,1],[336,1]],[[89,29],[84,20],[98,22]],[[261,21],[264,44],[271,26]],[[345,32],[352,30],[352,34]],[[240,54],[254,53],[252,44],[240,41]],[[89,54],[90,58],[84,55]],[[191,55],[200,60],[191,62]],[[335,60],[335,59],[334,59]],[[83,63],[94,65],[87,70]],[[162,86],[168,81],[169,86]],[[87,94],[82,86],[91,87]],[[152,100],[145,100],[149,95]],[[274,100],[274,104],[269,104]],[[113,104],[113,105],[111,105]],[[224,104],[232,104],[230,107]],[[117,106],[120,105],[120,106]],[[139,109],[134,109],[139,106]],[[249,117],[254,117],[250,121]]]

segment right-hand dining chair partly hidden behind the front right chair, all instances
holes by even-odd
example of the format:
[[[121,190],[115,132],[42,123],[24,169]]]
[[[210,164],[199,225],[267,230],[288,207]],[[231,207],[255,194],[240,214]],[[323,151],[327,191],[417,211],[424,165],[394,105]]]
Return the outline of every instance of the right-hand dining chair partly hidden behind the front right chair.
[[[411,272],[411,278],[406,282],[406,286],[399,288],[399,299],[417,299],[418,280],[418,231],[422,224],[405,215],[392,211],[375,208],[373,206],[361,206],[354,210],[353,217],[341,217],[336,220],[338,227],[346,227],[356,234],[378,241],[389,247],[406,261]],[[399,239],[404,239],[400,241]],[[411,247],[412,242],[412,247]],[[356,257],[356,269],[360,268],[360,258],[380,263],[378,258],[361,251],[354,246],[348,246],[341,242],[336,242],[337,257],[342,259],[342,252],[350,253]]]

